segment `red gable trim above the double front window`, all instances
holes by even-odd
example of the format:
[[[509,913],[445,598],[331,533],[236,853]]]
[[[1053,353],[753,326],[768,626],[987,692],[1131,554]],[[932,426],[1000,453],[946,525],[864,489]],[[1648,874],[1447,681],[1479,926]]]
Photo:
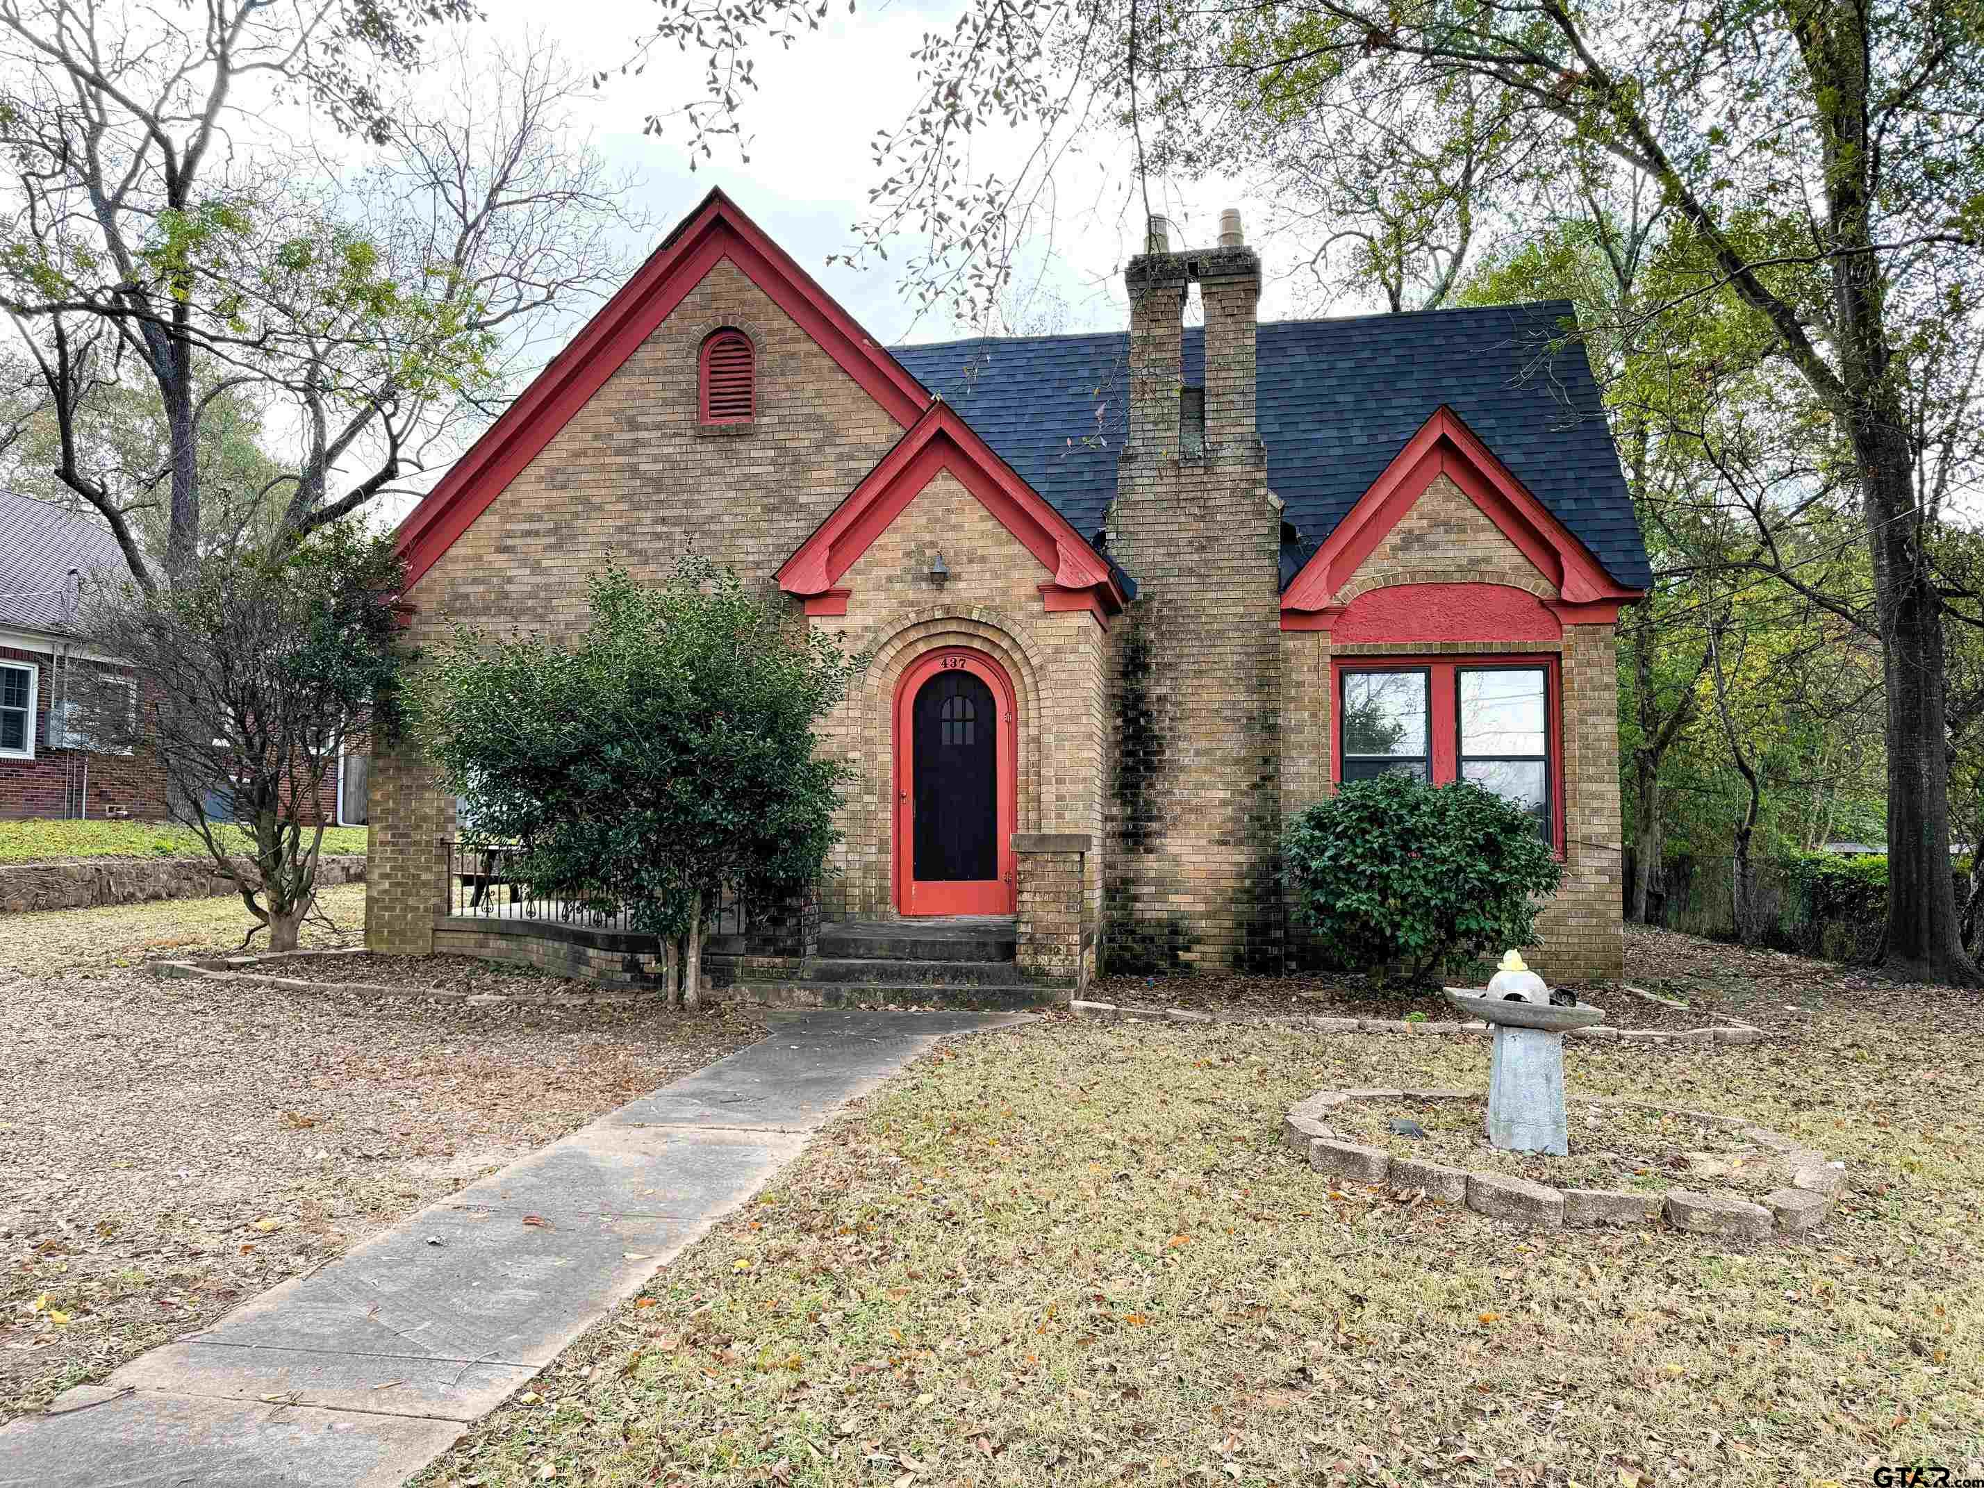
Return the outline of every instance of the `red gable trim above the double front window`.
[[[1288,619],[1327,611],[1335,591],[1377,552],[1377,546],[1413,510],[1413,502],[1425,494],[1434,476],[1442,474],[1460,486],[1468,500],[1522,550],[1538,573],[1557,585],[1557,593],[1567,605],[1621,603],[1641,595],[1639,589],[1613,583],[1591,550],[1577,542],[1550,508],[1516,480],[1510,468],[1460,421],[1460,415],[1440,405],[1393,456],[1385,472],[1371,482],[1371,490],[1357,498],[1357,506],[1337,524],[1315,556],[1302,565],[1302,571],[1282,593],[1282,627],[1311,629],[1309,625],[1292,627]]]

